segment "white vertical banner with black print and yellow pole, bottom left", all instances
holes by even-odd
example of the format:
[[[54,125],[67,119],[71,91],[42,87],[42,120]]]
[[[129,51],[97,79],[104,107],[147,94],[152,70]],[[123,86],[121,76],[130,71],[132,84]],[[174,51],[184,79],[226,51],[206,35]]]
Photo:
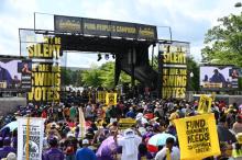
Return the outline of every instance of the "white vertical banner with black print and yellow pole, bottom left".
[[[44,118],[18,117],[18,160],[42,159]]]

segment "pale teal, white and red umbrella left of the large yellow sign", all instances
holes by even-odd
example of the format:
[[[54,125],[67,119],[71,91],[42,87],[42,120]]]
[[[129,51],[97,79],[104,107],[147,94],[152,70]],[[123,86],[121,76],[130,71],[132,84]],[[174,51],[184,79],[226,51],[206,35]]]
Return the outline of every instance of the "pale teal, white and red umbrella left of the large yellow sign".
[[[166,144],[166,139],[169,137],[172,137],[176,140],[175,136],[173,136],[170,134],[166,134],[166,133],[156,134],[156,135],[152,136],[147,141],[148,151],[151,151],[151,152],[158,151],[158,146],[164,146]]]

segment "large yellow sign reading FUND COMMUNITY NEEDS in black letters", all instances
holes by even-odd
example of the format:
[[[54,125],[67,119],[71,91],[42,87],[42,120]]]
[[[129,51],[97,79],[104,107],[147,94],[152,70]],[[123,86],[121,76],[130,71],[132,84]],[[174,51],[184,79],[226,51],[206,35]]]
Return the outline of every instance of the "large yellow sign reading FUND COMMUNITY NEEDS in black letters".
[[[175,119],[180,147],[180,160],[204,159],[220,155],[213,114]]]

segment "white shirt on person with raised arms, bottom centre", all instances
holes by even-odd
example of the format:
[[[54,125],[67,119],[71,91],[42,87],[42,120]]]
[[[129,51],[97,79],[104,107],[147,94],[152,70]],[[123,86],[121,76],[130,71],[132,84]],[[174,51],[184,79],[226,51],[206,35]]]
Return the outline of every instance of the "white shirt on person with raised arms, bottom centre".
[[[133,147],[129,146],[129,142],[133,140]],[[138,147],[141,144],[142,138],[133,135],[133,137],[130,138],[119,138],[118,139],[118,146],[122,146],[122,156],[121,160],[138,160]],[[127,153],[127,150],[132,151],[132,155]]]

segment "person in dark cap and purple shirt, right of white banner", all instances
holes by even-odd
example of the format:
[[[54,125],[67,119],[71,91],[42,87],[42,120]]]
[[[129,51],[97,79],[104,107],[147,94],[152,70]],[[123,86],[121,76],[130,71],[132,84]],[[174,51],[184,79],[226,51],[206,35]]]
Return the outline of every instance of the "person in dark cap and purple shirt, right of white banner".
[[[43,155],[43,160],[64,160],[65,156],[62,150],[59,150],[58,147],[58,141],[55,137],[51,138],[48,141],[51,149],[48,149],[44,155]]]

